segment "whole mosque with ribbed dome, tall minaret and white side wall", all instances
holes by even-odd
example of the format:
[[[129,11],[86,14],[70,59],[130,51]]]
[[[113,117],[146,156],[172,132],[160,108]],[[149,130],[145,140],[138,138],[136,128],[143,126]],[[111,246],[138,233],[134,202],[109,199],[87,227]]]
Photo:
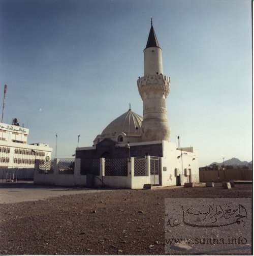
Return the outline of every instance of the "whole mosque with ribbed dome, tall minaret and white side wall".
[[[144,183],[173,186],[199,182],[198,151],[193,147],[180,148],[179,144],[176,147],[169,141],[166,99],[170,92],[170,78],[163,73],[162,48],[152,21],[144,49],[144,75],[138,78],[137,87],[143,101],[143,117],[130,105],[128,111],[96,136],[92,147],[76,148],[76,158],[81,159],[81,174],[101,175],[106,183],[106,176],[117,178],[124,169],[123,176],[131,176],[131,183],[126,184],[118,177],[115,187],[142,188]],[[98,166],[101,163],[98,159],[102,158],[105,170]],[[124,162],[109,167],[116,159],[129,159],[133,165],[127,168]],[[144,166],[138,167],[136,159],[146,159],[143,161],[145,174],[142,175],[141,171]],[[155,164],[157,167],[152,167]],[[145,178],[141,179],[141,176]]]

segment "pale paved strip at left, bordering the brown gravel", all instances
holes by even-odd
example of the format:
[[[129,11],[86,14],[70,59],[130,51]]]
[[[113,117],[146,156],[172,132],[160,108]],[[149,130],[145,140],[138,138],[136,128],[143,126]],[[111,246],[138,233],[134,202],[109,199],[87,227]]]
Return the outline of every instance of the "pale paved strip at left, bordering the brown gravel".
[[[109,189],[35,185],[33,182],[0,183],[0,204],[46,200],[60,195],[103,191],[109,191]]]

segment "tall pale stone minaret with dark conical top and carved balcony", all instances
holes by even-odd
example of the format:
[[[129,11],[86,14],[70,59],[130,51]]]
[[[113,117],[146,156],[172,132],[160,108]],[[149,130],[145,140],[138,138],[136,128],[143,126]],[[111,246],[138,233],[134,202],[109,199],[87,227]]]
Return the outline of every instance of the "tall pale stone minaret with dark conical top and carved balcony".
[[[170,78],[163,75],[162,49],[152,26],[144,49],[144,76],[137,81],[143,100],[143,141],[169,140],[166,98],[169,95]]]

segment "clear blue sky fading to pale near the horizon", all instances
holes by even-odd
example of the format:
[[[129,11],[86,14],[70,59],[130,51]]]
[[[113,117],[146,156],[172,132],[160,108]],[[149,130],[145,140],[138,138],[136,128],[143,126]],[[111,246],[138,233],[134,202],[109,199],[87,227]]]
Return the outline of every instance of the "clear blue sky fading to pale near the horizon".
[[[251,0],[0,0],[0,107],[52,157],[128,111],[153,28],[170,77],[170,141],[200,166],[252,160]],[[57,138],[56,138],[57,134]],[[56,152],[57,146],[57,152]]]

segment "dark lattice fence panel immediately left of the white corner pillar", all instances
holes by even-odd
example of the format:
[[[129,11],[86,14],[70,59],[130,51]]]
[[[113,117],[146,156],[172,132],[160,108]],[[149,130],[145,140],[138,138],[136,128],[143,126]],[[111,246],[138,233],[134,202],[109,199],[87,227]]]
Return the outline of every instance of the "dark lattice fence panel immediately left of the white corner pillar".
[[[128,176],[128,162],[126,158],[106,158],[105,176]]]

